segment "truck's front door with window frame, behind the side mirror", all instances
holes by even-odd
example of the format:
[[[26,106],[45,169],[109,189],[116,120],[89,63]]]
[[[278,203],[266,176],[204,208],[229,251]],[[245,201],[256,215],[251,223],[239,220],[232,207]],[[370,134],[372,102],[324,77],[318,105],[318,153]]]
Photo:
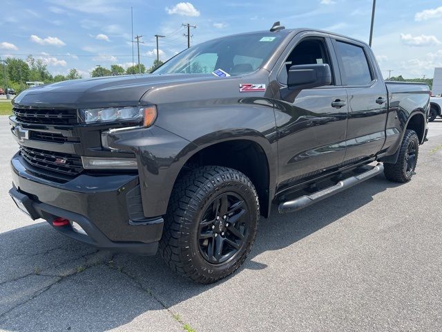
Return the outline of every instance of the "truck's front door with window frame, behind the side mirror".
[[[287,71],[300,64],[329,64],[333,82],[314,89],[287,89]],[[301,33],[272,71],[278,129],[278,190],[318,176],[343,162],[347,92],[327,34]],[[273,79],[273,73],[277,77]]]

